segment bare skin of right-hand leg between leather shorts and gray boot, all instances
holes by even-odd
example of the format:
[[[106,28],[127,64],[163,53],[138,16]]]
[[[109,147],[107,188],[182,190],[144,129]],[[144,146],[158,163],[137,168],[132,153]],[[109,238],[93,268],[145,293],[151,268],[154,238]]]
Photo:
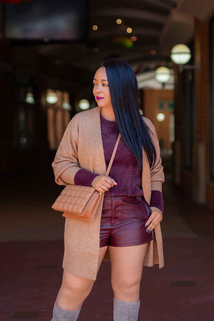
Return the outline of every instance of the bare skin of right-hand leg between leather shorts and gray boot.
[[[139,301],[140,280],[146,248],[147,243],[127,247],[109,246],[111,286],[116,300]]]

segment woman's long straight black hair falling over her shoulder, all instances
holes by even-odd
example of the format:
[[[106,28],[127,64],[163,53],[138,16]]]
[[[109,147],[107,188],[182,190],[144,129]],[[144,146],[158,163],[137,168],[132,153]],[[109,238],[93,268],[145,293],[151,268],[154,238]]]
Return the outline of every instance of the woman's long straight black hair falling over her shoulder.
[[[119,58],[102,62],[109,83],[111,103],[121,137],[136,158],[139,172],[143,168],[143,152],[147,155],[150,168],[156,159],[156,150],[151,131],[139,111],[138,84],[131,66]]]

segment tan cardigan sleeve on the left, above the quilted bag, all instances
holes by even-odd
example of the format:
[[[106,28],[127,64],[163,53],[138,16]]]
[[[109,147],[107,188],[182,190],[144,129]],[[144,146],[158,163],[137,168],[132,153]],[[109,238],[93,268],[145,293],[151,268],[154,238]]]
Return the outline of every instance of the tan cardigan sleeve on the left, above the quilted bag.
[[[54,162],[55,182],[58,185],[74,184],[75,174],[80,170],[78,163],[78,121],[74,116],[59,145]]]

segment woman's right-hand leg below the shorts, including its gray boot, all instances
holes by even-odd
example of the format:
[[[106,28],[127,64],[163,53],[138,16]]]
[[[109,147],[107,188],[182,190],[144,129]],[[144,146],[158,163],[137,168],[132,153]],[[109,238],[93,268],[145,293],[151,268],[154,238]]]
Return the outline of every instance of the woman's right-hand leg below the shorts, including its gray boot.
[[[136,321],[140,306],[140,280],[147,243],[109,247],[111,285],[114,291],[114,321]]]

